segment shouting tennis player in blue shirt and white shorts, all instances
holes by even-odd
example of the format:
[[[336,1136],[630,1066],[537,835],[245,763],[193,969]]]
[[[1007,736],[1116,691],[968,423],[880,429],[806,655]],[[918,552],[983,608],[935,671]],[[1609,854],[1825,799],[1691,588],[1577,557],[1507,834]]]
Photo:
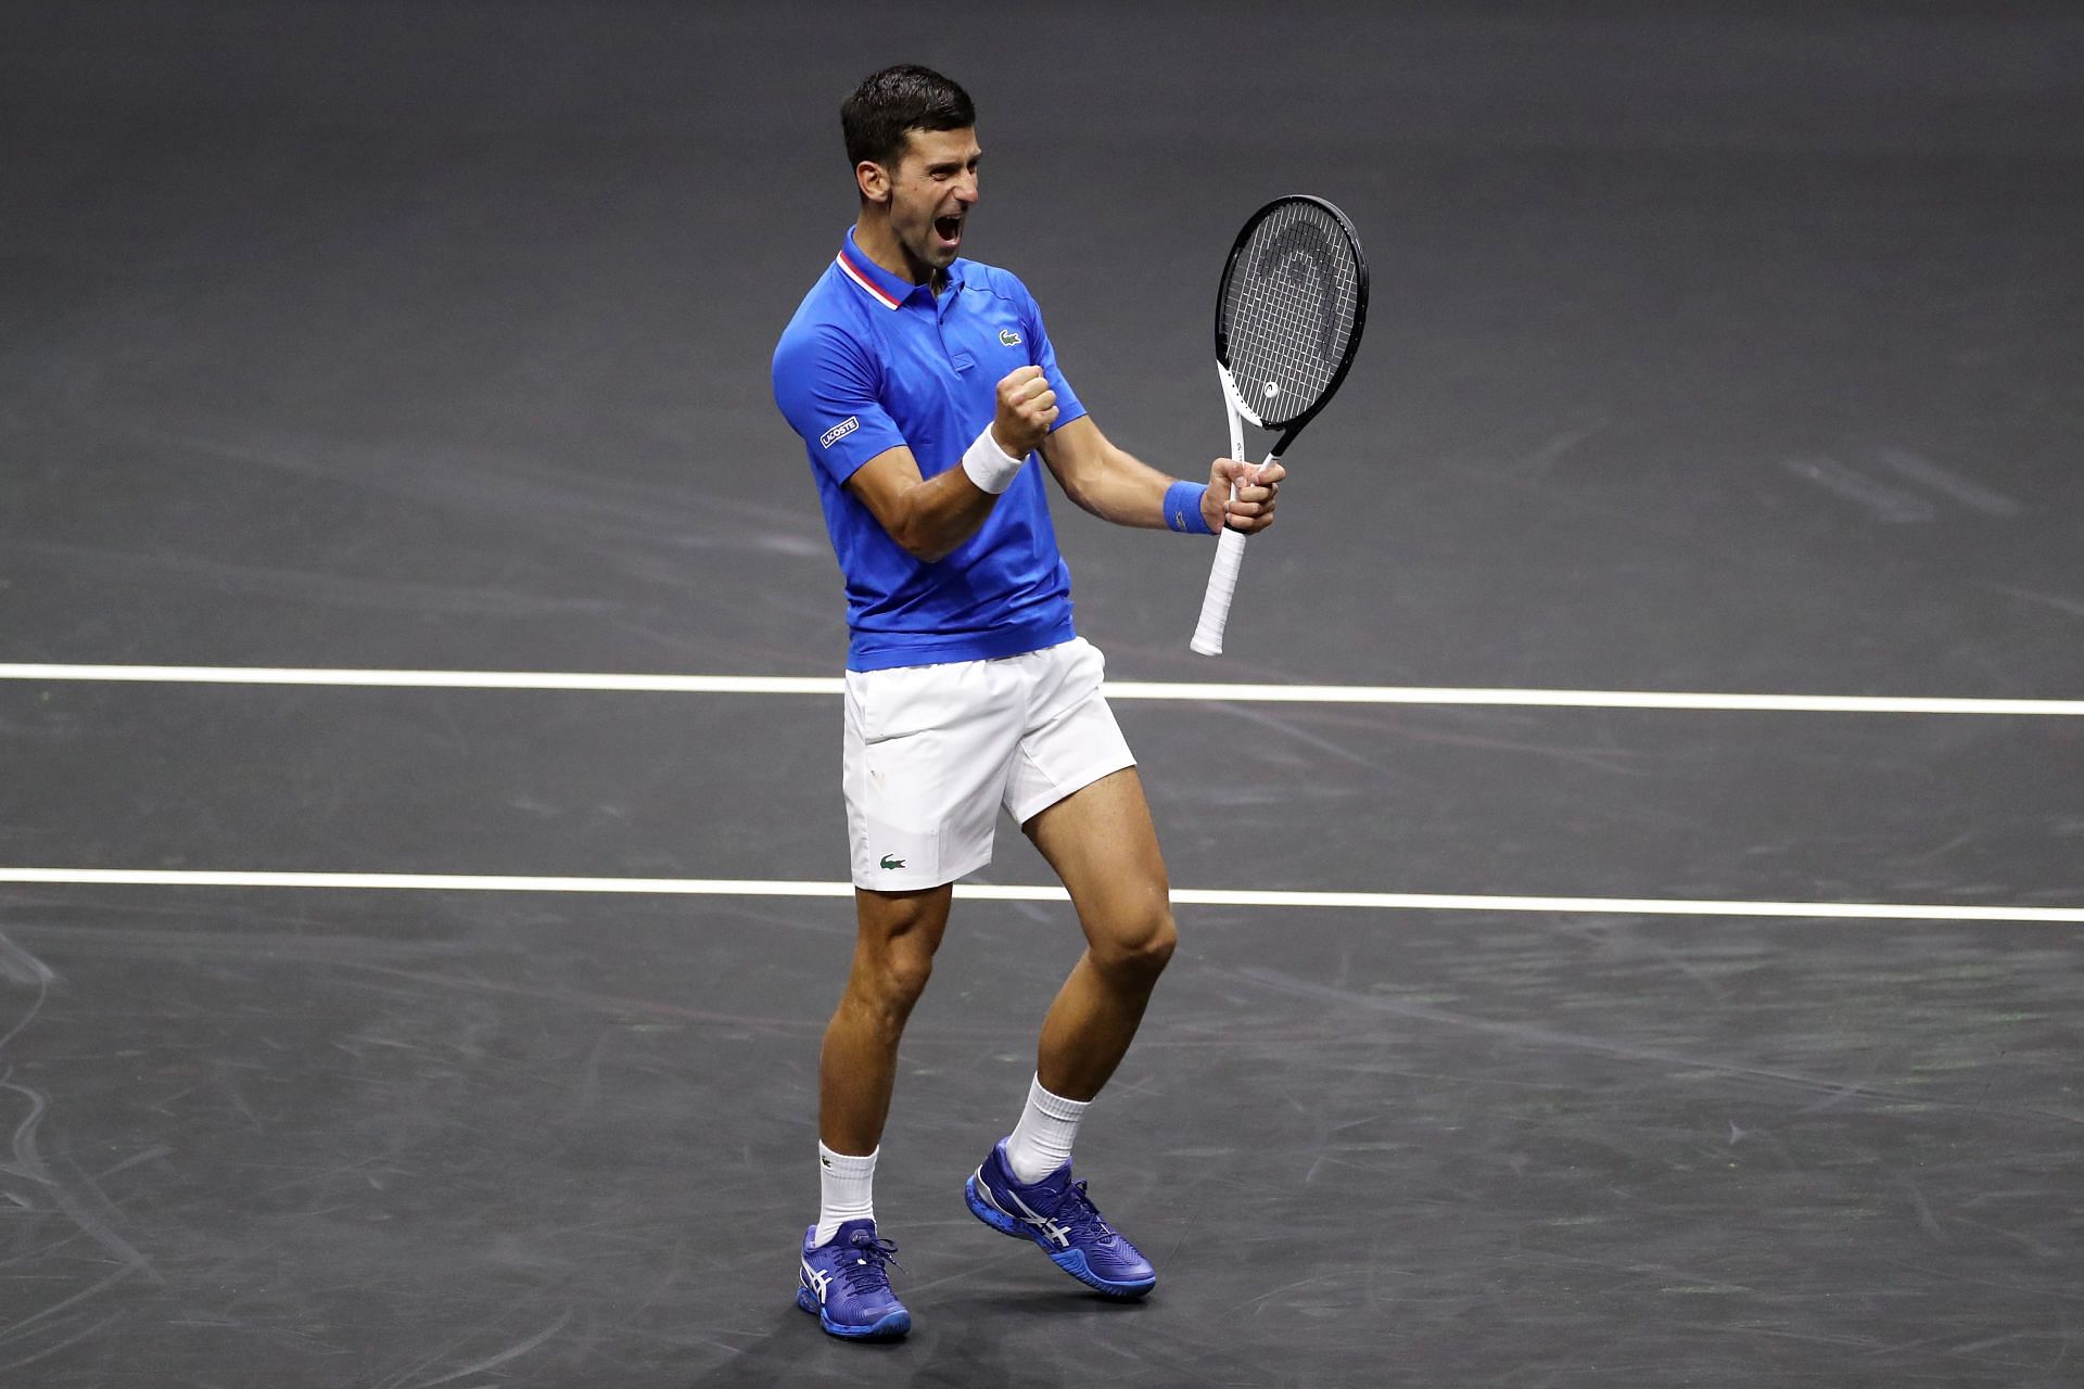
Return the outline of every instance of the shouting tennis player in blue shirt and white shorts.
[[[1025,1108],[965,1199],[1102,1293],[1157,1283],[1071,1179],[1080,1118],[1127,1052],[1175,937],[1136,760],[1100,698],[1100,652],[1071,625],[1042,473],[1102,521],[1215,535],[1273,521],[1282,466],[1217,458],[1205,483],[1175,481],[1109,444],[1027,287],[963,256],[982,152],[957,83],[886,69],[840,123],[859,219],[773,358],[775,402],[804,439],[846,581],[842,781],[859,916],[819,1056],[821,1208],[796,1302],[832,1335],[892,1339],[911,1314],[890,1289],[896,1245],[875,1231],[873,1177],[898,1037],[952,883],[992,858],[1000,806],[1069,889],[1086,952],[1042,1022]]]

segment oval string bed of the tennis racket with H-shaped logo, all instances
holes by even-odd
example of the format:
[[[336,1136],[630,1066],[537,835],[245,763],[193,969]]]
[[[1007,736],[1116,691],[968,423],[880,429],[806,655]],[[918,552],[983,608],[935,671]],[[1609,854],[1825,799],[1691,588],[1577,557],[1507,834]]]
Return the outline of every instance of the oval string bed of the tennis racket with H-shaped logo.
[[[1313,202],[1275,206],[1246,237],[1223,289],[1227,367],[1267,425],[1307,412],[1338,379],[1359,277],[1344,227]]]

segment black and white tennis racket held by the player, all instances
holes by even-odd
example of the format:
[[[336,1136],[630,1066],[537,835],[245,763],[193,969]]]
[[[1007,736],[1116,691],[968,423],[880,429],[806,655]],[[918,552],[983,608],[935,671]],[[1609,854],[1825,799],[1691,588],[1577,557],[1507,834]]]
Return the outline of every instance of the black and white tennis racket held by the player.
[[[1367,260],[1344,212],[1302,194],[1252,212],[1215,292],[1215,375],[1230,408],[1230,456],[1244,458],[1242,421],[1250,421],[1280,431],[1267,462],[1282,458],[1346,379],[1365,323]],[[1202,656],[1223,654],[1240,564],[1244,533],[1223,527],[1190,643]]]

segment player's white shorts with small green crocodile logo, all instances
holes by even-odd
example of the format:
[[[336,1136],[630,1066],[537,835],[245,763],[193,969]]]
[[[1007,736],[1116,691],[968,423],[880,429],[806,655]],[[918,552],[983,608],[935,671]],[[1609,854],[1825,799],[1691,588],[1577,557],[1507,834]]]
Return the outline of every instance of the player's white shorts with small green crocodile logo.
[[[846,833],[854,887],[940,887],[992,862],[1017,825],[1136,766],[1084,637],[1025,656],[846,673]]]

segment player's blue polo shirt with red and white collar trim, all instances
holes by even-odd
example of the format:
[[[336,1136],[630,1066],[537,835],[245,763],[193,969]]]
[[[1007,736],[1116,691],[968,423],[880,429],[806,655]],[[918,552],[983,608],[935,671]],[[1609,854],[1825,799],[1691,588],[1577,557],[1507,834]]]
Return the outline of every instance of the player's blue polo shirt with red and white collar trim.
[[[846,489],[854,469],[900,444],[921,477],[961,466],[992,423],[998,381],[1019,367],[1040,367],[1057,389],[1057,429],[1086,412],[1027,285],[957,260],[936,296],[869,260],[852,227],[782,331],[775,404],[802,435],[846,579],[850,671],[1019,656],[1075,635],[1071,571],[1038,458],[977,533],[936,562],[907,554]]]

